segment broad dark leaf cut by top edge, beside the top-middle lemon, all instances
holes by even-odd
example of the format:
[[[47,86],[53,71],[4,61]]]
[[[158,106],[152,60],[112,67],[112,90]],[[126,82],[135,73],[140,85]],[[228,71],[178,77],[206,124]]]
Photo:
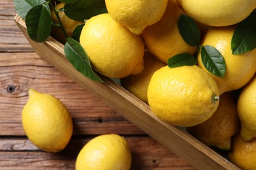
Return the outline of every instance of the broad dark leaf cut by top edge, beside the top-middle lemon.
[[[84,21],[98,14],[107,13],[104,0],[79,0],[64,6],[65,14],[76,21]]]

